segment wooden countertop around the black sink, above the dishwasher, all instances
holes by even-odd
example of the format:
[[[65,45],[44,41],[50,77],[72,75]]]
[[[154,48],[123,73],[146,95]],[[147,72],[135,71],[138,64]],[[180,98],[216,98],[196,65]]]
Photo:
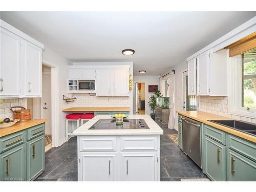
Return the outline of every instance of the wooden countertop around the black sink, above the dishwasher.
[[[219,116],[219,115],[214,115],[214,114],[210,114],[210,113],[205,113],[205,112],[201,112],[201,111],[177,111],[178,114],[180,115],[184,115],[186,117],[189,117],[191,119],[195,119],[199,122],[202,122],[204,124],[213,126],[219,130],[222,130],[224,132],[230,133],[232,135],[236,135],[238,137],[241,137],[243,139],[252,141],[254,143],[256,143],[256,137],[250,134],[246,134],[244,132],[238,131],[238,130],[234,130],[231,128],[228,128],[226,126],[217,124],[217,123],[213,123],[207,120],[227,120],[227,119],[231,119],[228,117],[223,117],[223,116]]]

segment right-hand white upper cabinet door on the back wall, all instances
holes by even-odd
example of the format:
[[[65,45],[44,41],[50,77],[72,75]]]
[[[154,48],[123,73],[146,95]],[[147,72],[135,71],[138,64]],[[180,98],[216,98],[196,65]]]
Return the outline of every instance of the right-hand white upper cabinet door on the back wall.
[[[129,96],[129,69],[114,69],[114,96]]]

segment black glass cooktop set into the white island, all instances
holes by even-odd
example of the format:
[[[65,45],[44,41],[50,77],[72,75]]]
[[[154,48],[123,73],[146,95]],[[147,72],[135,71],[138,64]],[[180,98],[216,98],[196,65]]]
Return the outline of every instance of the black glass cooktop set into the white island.
[[[150,129],[144,119],[123,119],[122,124],[116,124],[115,119],[100,119],[89,130],[138,130]]]

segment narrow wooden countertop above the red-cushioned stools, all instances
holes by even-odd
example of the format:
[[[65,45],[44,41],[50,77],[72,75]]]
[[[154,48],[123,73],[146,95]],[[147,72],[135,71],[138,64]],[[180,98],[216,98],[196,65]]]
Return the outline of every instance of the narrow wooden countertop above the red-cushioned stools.
[[[63,109],[63,112],[94,112],[94,111],[130,111],[129,107],[77,107],[77,108],[67,108]]]

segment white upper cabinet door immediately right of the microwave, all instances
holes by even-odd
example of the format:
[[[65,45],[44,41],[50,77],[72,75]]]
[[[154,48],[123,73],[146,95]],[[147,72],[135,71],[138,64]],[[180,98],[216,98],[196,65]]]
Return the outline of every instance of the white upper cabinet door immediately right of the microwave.
[[[112,79],[111,69],[97,70],[97,96],[112,95]]]

